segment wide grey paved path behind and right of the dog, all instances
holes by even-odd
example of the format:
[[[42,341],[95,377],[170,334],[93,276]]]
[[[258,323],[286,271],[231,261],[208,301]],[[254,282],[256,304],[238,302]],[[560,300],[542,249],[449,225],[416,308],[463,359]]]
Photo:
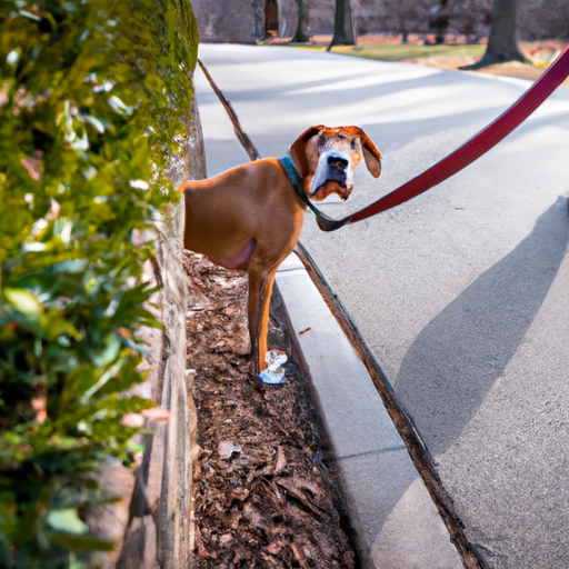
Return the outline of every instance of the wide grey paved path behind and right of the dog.
[[[311,124],[358,124],[360,166],[332,217],[391,191],[496,118],[528,82],[283,47],[200,57],[261,156]],[[201,73],[209,174],[247,161]],[[569,89],[423,196],[301,240],[348,308],[495,568],[569,567]],[[428,569],[428,568],[425,568]]]

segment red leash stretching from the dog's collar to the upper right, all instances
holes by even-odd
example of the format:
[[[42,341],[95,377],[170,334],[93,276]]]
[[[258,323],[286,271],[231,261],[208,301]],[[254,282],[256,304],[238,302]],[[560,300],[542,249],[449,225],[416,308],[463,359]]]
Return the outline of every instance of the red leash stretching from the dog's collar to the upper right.
[[[492,147],[519,127],[569,76],[569,46],[548,70],[500,117],[488,124],[478,134],[465,142],[448,157],[443,158],[412,180],[403,183],[391,193],[375,201],[343,219],[331,220],[317,218],[323,231],[333,231],[347,223],[355,223],[382,211],[400,206],[419,196],[462,168],[472,163]]]

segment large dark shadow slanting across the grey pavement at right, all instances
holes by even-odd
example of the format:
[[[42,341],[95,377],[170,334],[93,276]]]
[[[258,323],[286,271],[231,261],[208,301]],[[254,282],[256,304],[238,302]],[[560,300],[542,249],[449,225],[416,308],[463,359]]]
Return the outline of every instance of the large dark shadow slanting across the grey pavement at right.
[[[459,438],[533,322],[568,240],[567,199],[419,333],[396,391],[433,456]]]

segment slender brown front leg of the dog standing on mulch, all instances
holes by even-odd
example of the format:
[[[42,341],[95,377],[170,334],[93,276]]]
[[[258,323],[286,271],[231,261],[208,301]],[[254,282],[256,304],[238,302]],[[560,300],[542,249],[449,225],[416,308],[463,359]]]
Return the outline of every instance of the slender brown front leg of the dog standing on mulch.
[[[269,331],[269,305],[277,268],[266,269],[251,259],[249,266],[249,336],[251,338],[252,372],[258,376],[267,362],[267,335]]]

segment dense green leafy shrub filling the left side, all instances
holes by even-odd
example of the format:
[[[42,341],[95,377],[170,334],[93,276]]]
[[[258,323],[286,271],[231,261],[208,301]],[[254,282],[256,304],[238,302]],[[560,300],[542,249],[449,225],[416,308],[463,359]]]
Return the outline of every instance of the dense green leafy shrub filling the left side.
[[[176,192],[189,0],[0,0],[0,567],[83,567],[97,463],[124,458],[151,224]],[[37,420],[32,401],[47,399]]]

